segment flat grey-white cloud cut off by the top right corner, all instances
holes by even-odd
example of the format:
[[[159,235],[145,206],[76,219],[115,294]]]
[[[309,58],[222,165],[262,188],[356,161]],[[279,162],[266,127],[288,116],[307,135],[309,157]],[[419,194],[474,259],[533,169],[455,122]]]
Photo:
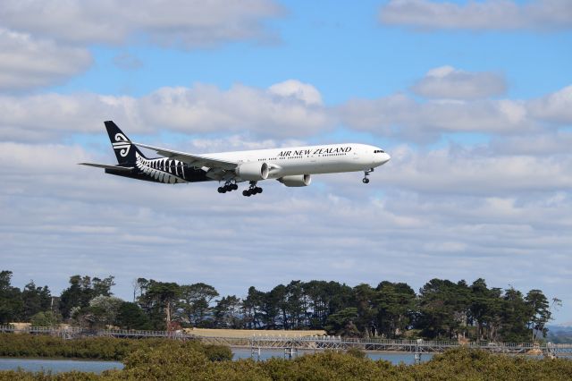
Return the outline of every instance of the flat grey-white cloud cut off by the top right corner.
[[[380,21],[417,29],[559,30],[572,27],[568,0],[468,1],[465,4],[432,0],[390,0]]]

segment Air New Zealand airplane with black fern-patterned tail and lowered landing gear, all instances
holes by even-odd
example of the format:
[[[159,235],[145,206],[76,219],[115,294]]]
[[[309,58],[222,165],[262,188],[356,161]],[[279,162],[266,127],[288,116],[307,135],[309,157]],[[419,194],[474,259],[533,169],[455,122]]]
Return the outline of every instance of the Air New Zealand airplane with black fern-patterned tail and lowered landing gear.
[[[363,171],[362,182],[368,183],[367,176],[374,168],[391,159],[381,148],[354,143],[196,155],[132,142],[113,121],[105,122],[105,129],[118,164],[80,165],[148,182],[224,182],[219,193],[238,190],[239,182],[248,182],[248,189],[242,191],[246,197],[262,193],[258,182],[275,179],[287,187],[304,187],[312,181],[312,174]],[[138,147],[154,150],[161,157],[148,158]]]

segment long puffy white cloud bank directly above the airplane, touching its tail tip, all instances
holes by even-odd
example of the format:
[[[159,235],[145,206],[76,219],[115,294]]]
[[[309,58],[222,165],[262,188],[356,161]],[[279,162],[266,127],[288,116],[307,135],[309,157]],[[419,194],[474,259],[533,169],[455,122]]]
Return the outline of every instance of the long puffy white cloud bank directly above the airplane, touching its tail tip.
[[[45,140],[62,134],[102,131],[113,119],[128,133],[240,132],[257,137],[307,137],[332,126],[319,92],[299,81],[270,89],[234,85],[222,90],[196,84],[162,88],[145,97],[96,94],[0,96],[0,139]],[[280,89],[282,93],[279,93]]]

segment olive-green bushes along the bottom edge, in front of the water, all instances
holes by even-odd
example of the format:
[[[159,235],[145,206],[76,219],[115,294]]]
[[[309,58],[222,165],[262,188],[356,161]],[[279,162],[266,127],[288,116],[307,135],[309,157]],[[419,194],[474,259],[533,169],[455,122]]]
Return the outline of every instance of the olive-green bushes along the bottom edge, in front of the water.
[[[139,348],[122,370],[97,376],[70,372],[0,372],[4,380],[570,380],[571,360],[535,360],[460,348],[420,365],[392,365],[344,353],[324,352],[296,360],[209,360],[199,343],[164,342]]]

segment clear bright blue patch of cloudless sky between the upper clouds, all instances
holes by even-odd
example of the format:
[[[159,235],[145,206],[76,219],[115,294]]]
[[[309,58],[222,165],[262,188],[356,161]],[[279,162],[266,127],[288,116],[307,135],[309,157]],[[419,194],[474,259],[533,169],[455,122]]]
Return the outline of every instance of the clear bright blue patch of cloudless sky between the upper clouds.
[[[462,4],[463,2],[460,2]],[[383,27],[383,2],[286,2],[285,14],[266,21],[276,41],[245,41],[181,50],[132,45],[91,47],[96,64],[58,91],[97,91],[142,96],[164,86],[206,82],[265,88],[295,78],[311,82],[326,105],[351,97],[382,97],[403,91],[427,68],[448,64],[467,71],[501,72],[511,97],[540,97],[561,88],[570,54],[569,30],[430,30]],[[327,12],[324,12],[327,10]],[[136,70],[114,65],[132,55]],[[229,62],[232,63],[229,70]],[[539,71],[539,67],[549,70]]]

